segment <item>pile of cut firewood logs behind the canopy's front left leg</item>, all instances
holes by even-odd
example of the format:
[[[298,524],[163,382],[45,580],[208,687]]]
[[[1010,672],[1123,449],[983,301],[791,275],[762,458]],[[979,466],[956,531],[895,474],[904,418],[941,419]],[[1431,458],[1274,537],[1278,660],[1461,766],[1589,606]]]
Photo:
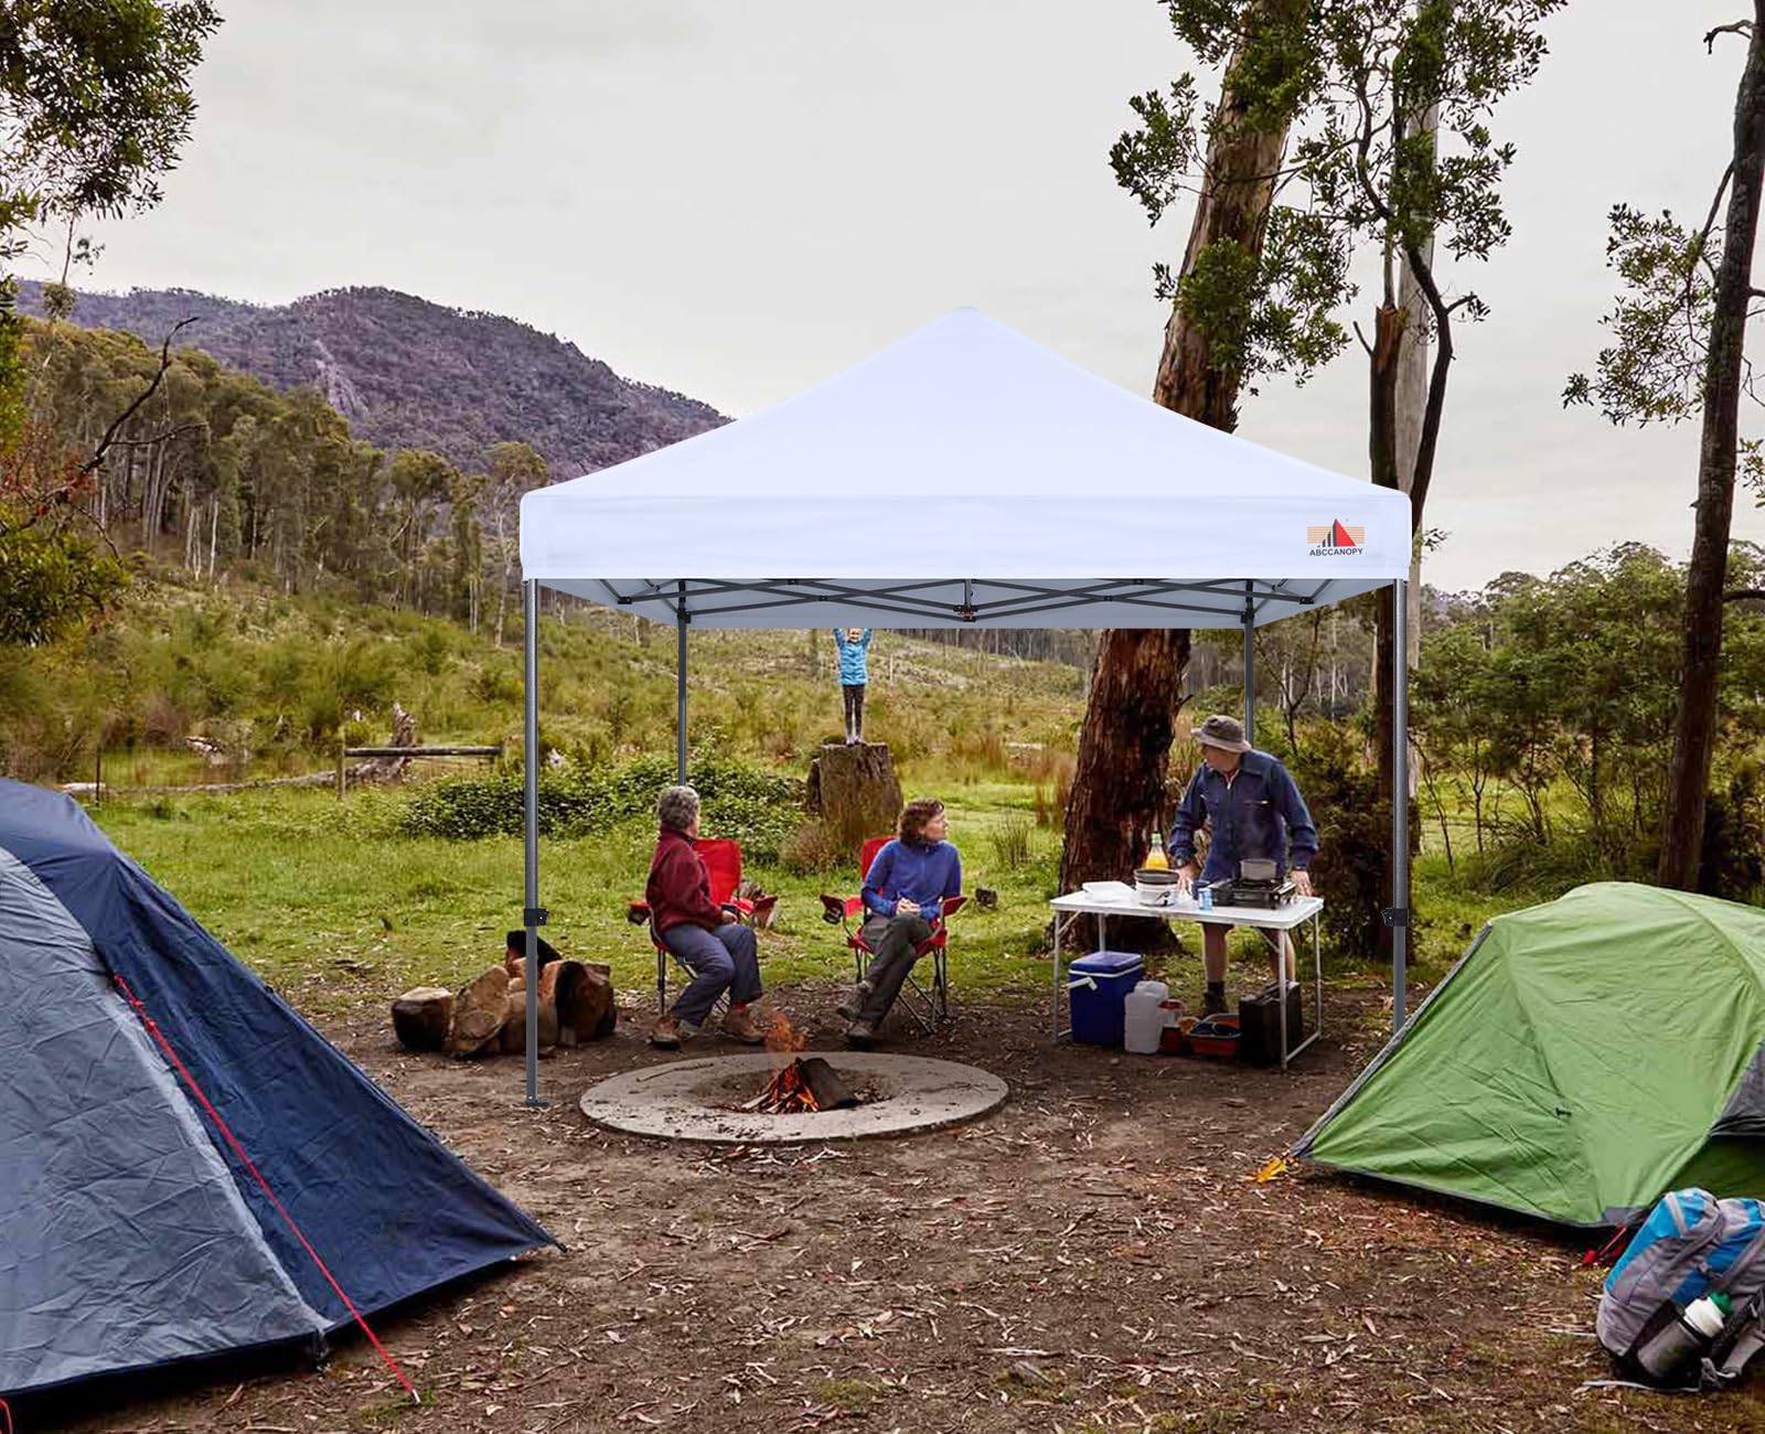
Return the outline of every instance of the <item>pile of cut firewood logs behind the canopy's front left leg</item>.
[[[461,1060],[528,1049],[528,987],[524,932],[508,932],[508,954],[477,980],[454,992],[418,985],[392,1003],[392,1030],[406,1051],[445,1051]],[[540,941],[538,1049],[581,1045],[612,1035],[611,968],[565,961]]]

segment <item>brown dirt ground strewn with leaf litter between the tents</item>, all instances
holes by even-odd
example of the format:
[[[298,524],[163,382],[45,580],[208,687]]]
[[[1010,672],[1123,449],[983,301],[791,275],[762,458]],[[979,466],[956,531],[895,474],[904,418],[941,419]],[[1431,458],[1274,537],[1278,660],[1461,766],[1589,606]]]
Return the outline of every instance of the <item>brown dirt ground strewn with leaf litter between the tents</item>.
[[[777,1003],[837,1044],[831,987]],[[1331,996],[1296,1068],[1055,1047],[1045,1008],[960,1001],[893,1049],[1011,1098],[897,1141],[715,1148],[612,1136],[577,1097],[669,1060],[646,1012],[540,1067],[402,1054],[376,1012],[327,1031],[565,1245],[378,1321],[328,1367],[214,1369],[21,1411],[19,1430],[1765,1430],[1756,1392],[1583,1388],[1581,1243],[1322,1173],[1255,1183],[1373,1053]],[[732,1051],[715,1037],[685,1056]]]

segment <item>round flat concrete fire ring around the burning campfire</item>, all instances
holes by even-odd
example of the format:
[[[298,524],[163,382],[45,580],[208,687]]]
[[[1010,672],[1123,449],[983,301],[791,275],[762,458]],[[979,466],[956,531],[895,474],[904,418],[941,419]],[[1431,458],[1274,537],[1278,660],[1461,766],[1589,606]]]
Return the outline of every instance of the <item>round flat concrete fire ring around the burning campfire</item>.
[[[875,1098],[849,1111],[762,1114],[727,1106],[757,1095],[789,1056],[711,1056],[628,1070],[582,1095],[582,1114],[607,1130],[710,1144],[819,1144],[916,1136],[980,1120],[1004,1104],[1006,1084],[973,1065],[882,1051],[801,1051],[821,1056]]]

